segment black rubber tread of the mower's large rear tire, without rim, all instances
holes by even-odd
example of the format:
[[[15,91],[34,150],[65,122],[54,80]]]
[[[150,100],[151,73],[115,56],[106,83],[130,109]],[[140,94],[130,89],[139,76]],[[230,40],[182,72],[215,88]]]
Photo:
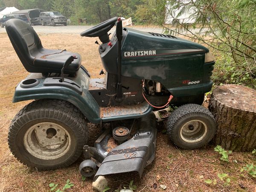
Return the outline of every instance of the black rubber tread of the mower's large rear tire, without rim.
[[[73,157],[70,157],[69,160],[61,165],[52,167],[37,167],[38,170],[42,171],[54,170],[71,165],[79,158],[83,150],[83,146],[88,141],[87,122],[81,111],[74,105],[67,101],[58,99],[41,99],[33,101],[26,105],[24,108],[22,108],[16,114],[11,122],[8,134],[8,144],[12,154],[24,165],[34,167],[32,164],[29,163],[28,160],[25,160],[26,158],[19,157],[17,148],[15,147],[15,135],[17,134],[21,126],[24,125],[26,122],[29,122],[30,120],[36,118],[47,118],[49,116],[61,120],[62,122],[68,122],[69,125],[72,125],[76,128],[73,129],[73,131],[76,134],[78,147]]]

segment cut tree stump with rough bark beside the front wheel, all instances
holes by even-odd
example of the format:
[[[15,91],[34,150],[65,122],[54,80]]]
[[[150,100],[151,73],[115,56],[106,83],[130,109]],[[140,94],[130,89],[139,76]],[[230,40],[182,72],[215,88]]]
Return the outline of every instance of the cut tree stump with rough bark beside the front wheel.
[[[232,151],[256,148],[256,90],[235,84],[212,91],[209,110],[217,121],[215,145]]]

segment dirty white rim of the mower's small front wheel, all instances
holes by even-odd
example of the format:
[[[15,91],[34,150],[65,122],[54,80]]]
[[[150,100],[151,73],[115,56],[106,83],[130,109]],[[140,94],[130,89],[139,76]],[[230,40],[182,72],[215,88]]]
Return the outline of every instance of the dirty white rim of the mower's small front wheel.
[[[197,143],[204,139],[208,131],[205,122],[201,120],[191,120],[186,122],[180,129],[180,137],[187,143]]]

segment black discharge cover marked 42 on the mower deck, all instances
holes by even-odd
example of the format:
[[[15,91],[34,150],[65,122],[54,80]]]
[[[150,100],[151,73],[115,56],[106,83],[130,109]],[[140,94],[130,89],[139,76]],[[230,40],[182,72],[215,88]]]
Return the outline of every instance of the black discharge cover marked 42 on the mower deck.
[[[141,177],[145,166],[154,160],[157,137],[155,122],[153,112],[140,118],[138,133],[108,153],[94,180],[100,175],[125,172],[138,172]]]

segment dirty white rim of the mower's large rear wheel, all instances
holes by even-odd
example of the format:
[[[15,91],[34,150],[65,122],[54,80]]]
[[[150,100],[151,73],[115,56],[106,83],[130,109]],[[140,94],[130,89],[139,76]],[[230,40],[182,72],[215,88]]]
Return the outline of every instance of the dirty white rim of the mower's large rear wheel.
[[[62,157],[71,146],[67,130],[52,122],[32,125],[23,139],[26,150],[39,159],[54,160]]]

